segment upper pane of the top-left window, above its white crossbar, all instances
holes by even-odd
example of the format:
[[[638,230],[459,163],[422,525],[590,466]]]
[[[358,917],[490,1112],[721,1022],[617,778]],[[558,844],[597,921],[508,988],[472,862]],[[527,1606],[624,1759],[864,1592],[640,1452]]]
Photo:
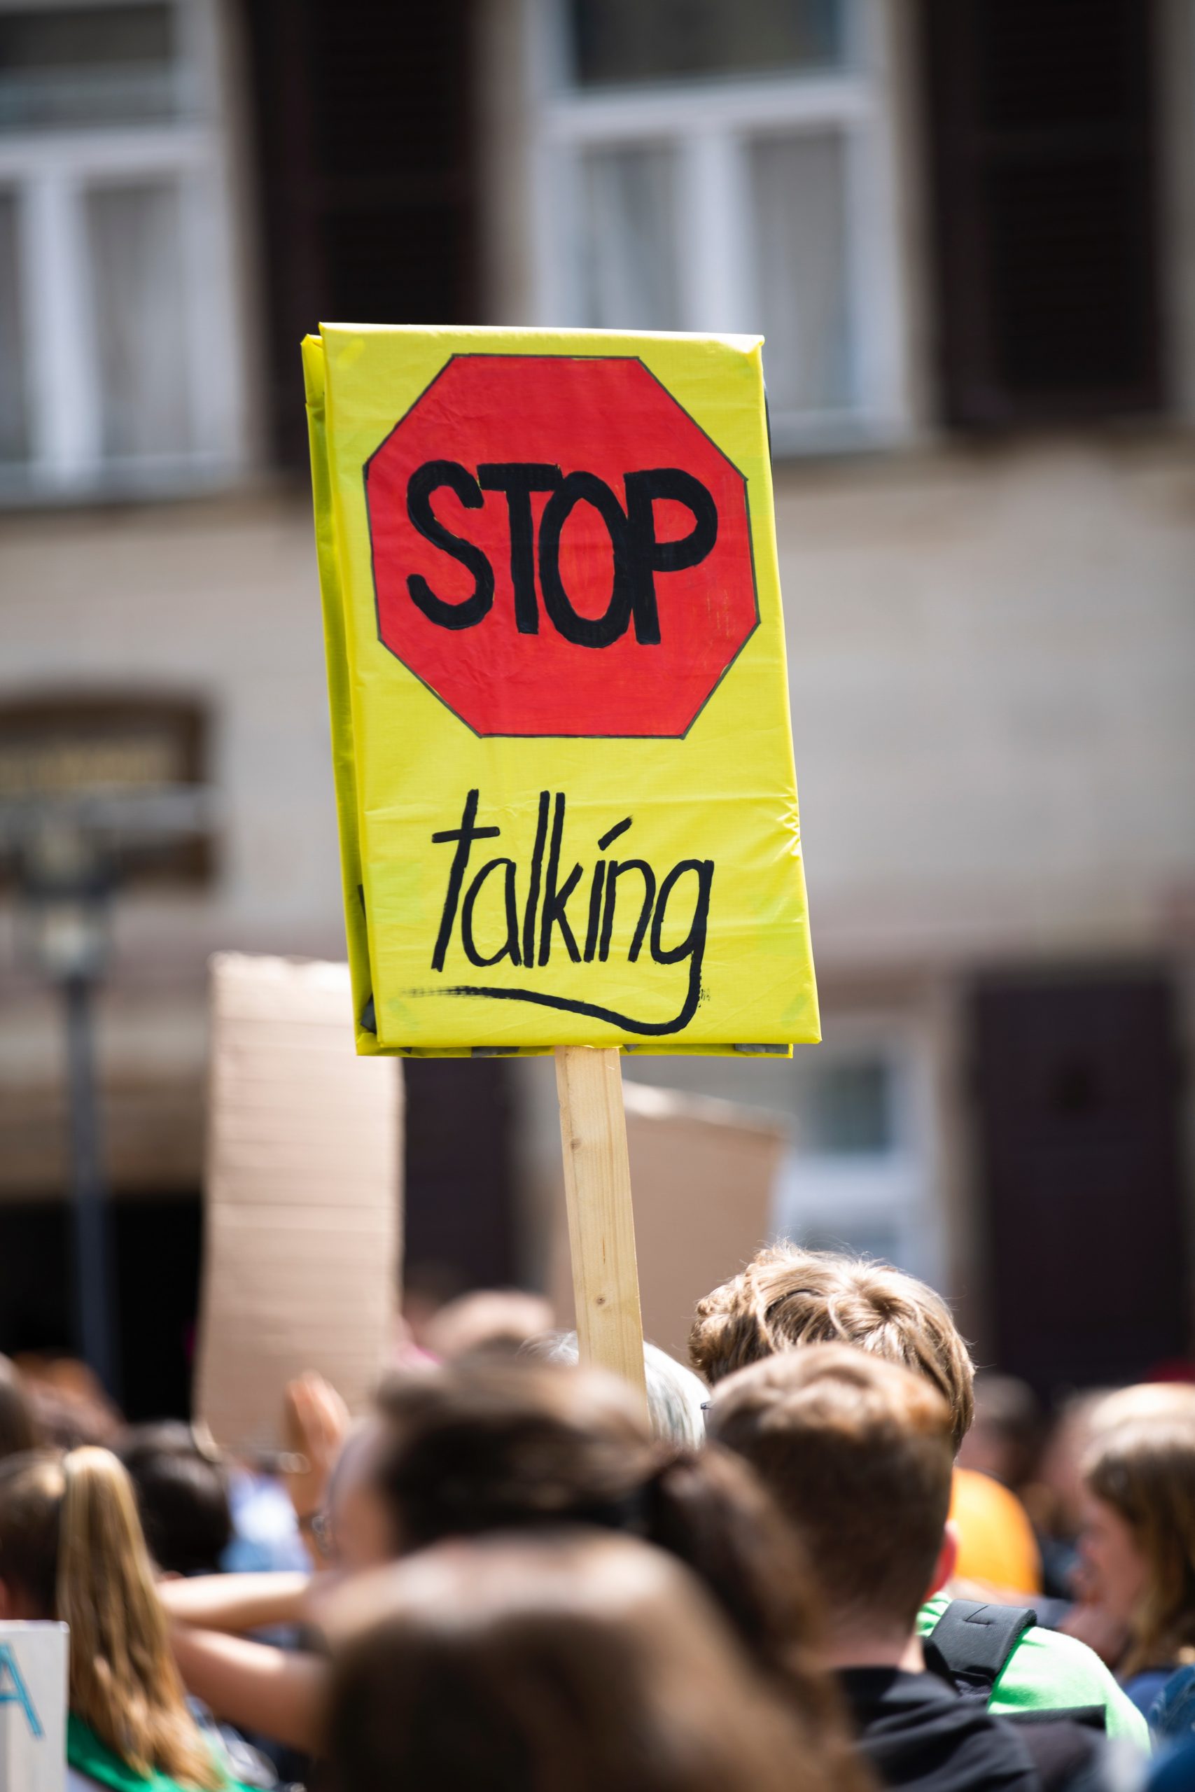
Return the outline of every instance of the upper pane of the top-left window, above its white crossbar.
[[[143,124],[176,111],[172,5],[0,11],[0,131]]]

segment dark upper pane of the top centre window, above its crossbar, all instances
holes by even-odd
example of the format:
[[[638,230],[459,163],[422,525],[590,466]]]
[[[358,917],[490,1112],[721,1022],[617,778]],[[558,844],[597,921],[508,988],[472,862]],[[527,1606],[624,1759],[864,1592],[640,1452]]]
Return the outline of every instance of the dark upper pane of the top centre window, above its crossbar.
[[[577,84],[831,68],[846,0],[572,0]]]

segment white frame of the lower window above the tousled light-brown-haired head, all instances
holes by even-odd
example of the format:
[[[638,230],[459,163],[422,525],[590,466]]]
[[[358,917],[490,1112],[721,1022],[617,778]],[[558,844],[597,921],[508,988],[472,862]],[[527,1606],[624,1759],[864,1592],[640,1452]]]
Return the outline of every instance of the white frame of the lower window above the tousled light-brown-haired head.
[[[896,1238],[901,1269],[942,1287],[946,1276],[941,1215],[933,1054],[924,1025],[907,1014],[833,1016],[817,1064],[881,1057],[892,1073],[892,1142],[881,1152],[819,1152],[801,1138],[785,1154],[776,1188],[779,1236],[851,1242],[878,1229]],[[794,1066],[795,1068],[795,1066]]]

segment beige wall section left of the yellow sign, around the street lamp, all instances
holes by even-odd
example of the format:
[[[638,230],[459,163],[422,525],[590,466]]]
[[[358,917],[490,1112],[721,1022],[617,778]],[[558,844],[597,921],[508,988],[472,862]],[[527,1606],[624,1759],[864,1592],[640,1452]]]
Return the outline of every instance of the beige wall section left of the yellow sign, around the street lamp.
[[[319,586],[305,496],[0,520],[0,701],[177,692],[211,715],[210,892],[118,903],[100,1000],[109,1165],[195,1186],[217,946],[342,957]],[[0,903],[0,1192],[63,1179],[61,1029]]]

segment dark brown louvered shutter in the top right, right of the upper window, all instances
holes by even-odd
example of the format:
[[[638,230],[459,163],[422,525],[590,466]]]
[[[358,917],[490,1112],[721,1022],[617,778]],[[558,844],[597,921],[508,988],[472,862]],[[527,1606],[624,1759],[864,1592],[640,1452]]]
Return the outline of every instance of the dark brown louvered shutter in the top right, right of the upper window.
[[[942,407],[1161,405],[1154,0],[923,0]]]

